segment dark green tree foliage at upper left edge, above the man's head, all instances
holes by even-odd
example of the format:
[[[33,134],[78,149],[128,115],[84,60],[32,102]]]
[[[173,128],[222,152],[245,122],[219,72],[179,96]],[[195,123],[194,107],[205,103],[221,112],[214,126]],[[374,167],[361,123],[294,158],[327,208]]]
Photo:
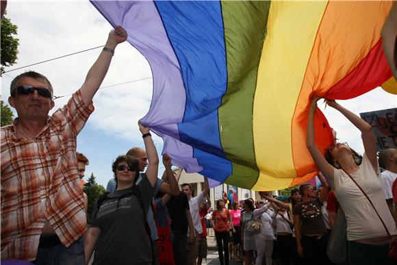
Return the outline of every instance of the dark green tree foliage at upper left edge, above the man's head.
[[[14,38],[18,27],[12,24],[9,18],[5,16],[1,20],[1,68],[0,74],[4,72],[3,66],[12,66],[15,64],[16,55],[18,54],[18,38]]]

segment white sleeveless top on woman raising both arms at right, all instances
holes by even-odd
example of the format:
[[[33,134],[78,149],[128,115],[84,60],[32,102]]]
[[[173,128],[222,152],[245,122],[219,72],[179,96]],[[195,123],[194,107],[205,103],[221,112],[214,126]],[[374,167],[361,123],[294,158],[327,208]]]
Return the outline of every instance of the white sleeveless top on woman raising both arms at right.
[[[383,196],[381,180],[378,177],[379,167],[377,171],[374,171],[370,160],[364,153],[359,170],[350,173],[350,176],[370,197],[389,233],[391,235],[397,234],[394,219]],[[335,168],[333,178],[330,178],[329,181],[331,187],[335,190],[335,196],[340,206],[344,210],[348,225],[347,239],[349,241],[387,236],[385,227],[383,227],[368,199],[342,169]]]

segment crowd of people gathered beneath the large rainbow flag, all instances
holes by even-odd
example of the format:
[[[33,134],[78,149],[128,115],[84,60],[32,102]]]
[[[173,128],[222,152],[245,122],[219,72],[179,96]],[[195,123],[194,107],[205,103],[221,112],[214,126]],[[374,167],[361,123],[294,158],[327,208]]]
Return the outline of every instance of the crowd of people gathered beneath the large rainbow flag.
[[[114,178],[86,223],[81,186],[88,159],[77,153],[77,135],[94,111],[92,98],[110,66],[114,49],[127,39],[123,27],[109,34],[84,84],[64,108],[48,116],[53,88],[44,75],[18,75],[10,105],[18,117],[1,127],[1,260],[34,264],[201,265],[207,257],[207,227],[214,229],[220,264],[333,264],[327,252],[337,214],[344,212],[346,264],[392,264],[389,242],[397,235],[397,151],[376,153],[372,127],[339,103],[326,103],[361,131],[365,153],[337,142],[322,153],[316,146],[310,102],[307,148],[320,169],[321,188],[302,184],[290,197],[261,192],[228,207],[220,199],[209,215],[209,184],[193,196],[181,170],[157,178],[159,157],[150,128],[138,123],[144,149],[134,147],[112,163]],[[379,164],[385,169],[380,172]],[[145,171],[146,168],[146,171]],[[207,216],[210,216],[208,223]],[[93,255],[93,257],[92,257]]]

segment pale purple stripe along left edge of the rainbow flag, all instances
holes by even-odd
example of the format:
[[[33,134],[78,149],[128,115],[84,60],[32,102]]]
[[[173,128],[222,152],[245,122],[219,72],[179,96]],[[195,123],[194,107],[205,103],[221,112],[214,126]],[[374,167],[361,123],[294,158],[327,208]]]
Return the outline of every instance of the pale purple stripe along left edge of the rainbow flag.
[[[193,149],[179,141],[177,123],[183,121],[185,88],[181,68],[153,1],[91,1],[113,26],[128,32],[127,41],[148,60],[153,74],[153,98],[149,112],[140,121],[164,140],[163,153],[172,164],[197,172],[203,168],[193,158]],[[133,62],[131,62],[133,63]]]

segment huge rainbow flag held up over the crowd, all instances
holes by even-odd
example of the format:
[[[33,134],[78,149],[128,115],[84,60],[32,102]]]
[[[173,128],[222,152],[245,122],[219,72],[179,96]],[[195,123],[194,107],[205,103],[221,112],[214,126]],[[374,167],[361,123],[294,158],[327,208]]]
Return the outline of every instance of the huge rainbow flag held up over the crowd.
[[[381,28],[392,1],[92,1],[148,60],[142,124],[172,164],[276,190],[313,178],[309,98],[350,99],[392,77]],[[133,63],[133,62],[131,62]],[[320,111],[316,143],[333,141]]]

